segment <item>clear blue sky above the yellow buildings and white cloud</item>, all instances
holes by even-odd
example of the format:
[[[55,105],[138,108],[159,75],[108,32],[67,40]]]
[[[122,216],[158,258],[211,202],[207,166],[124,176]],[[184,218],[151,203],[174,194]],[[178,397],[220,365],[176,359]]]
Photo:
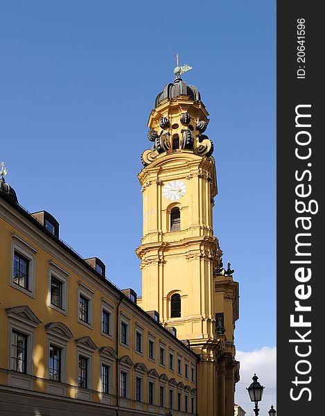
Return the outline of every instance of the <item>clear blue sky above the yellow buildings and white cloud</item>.
[[[175,53],[193,67],[183,78],[210,114],[214,231],[240,283],[236,347],[247,352],[276,345],[275,28],[275,1],[0,3],[7,181],[119,288],[141,293],[148,116]]]

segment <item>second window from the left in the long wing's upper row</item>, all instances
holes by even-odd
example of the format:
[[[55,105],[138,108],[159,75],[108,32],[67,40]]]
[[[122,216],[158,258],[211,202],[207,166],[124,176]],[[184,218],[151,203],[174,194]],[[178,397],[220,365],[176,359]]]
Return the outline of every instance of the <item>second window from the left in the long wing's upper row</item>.
[[[67,315],[69,273],[53,261],[49,261],[49,306]]]

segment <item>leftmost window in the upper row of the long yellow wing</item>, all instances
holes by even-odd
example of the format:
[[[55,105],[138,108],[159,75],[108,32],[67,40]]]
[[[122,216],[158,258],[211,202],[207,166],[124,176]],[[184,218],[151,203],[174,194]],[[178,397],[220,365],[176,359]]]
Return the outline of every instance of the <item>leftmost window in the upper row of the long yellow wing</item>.
[[[31,297],[35,296],[35,254],[32,245],[12,234],[10,286]]]

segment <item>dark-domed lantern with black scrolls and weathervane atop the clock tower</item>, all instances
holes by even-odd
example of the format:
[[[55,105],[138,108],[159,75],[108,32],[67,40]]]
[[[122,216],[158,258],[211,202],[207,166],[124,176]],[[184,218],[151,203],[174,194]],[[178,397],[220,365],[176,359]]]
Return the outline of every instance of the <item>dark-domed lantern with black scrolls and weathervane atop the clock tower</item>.
[[[141,155],[143,166],[148,166],[160,155],[192,152],[210,157],[213,142],[203,135],[209,123],[209,113],[201,101],[200,92],[194,85],[187,85],[180,76],[191,67],[184,65],[174,69],[174,83],[167,84],[155,100],[148,121],[148,139],[151,149]]]

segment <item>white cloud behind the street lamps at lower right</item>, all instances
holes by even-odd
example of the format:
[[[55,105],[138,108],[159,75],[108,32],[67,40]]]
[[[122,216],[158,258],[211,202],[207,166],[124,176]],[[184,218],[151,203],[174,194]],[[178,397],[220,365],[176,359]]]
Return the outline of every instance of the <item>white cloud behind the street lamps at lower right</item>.
[[[235,403],[245,410],[246,416],[255,415],[252,411],[255,405],[249,400],[246,388],[256,373],[258,381],[265,386],[262,401],[258,402],[261,409],[258,416],[268,416],[272,404],[276,409],[276,347],[237,351],[236,360],[240,362],[240,381],[236,383]]]

